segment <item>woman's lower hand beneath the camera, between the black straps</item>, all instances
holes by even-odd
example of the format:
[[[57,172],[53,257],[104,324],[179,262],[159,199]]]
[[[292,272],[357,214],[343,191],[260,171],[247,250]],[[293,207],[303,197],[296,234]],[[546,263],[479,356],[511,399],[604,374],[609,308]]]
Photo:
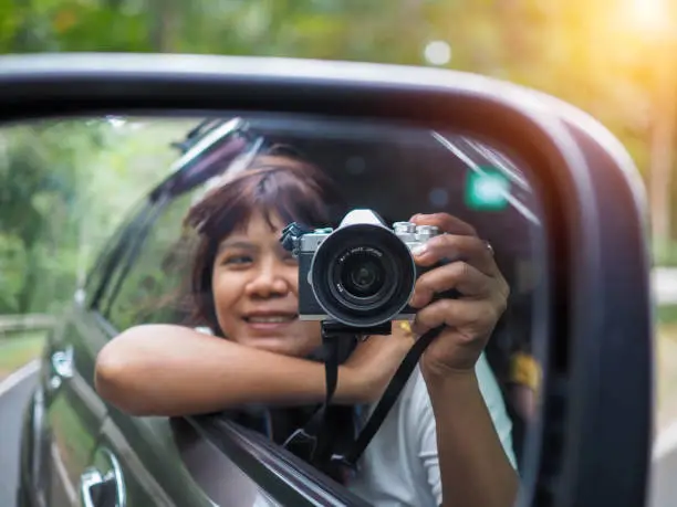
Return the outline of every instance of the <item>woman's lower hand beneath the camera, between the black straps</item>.
[[[414,335],[402,323],[393,323],[393,334],[372,335],[360,341],[343,363],[341,374],[346,376],[352,402],[373,403],[386,390],[403,359],[414,345]],[[341,381],[340,381],[341,382]],[[346,401],[346,400],[343,400]]]

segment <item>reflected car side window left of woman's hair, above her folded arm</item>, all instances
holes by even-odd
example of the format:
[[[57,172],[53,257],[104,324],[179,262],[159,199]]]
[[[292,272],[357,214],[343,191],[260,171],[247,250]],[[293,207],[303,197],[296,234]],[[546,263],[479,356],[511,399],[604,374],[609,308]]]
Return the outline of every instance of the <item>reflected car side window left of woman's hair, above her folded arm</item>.
[[[176,162],[177,171],[150,192],[153,205],[123,239],[129,244],[117,263],[115,279],[106,287],[108,299],[100,306],[117,329],[180,323],[190,314],[185,298],[190,283],[187,253],[196,246],[196,235],[184,228],[184,219],[190,205],[230,170],[230,162],[242,154],[247,159],[248,144],[238,128],[233,119],[207,133],[200,141],[205,146],[184,154]]]

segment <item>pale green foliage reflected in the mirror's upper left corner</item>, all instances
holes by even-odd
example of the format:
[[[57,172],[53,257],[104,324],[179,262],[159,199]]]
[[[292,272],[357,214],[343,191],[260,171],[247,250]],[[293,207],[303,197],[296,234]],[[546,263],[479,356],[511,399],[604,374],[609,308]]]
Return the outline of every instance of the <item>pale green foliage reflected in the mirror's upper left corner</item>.
[[[67,303],[195,123],[75,119],[0,131],[0,314]]]

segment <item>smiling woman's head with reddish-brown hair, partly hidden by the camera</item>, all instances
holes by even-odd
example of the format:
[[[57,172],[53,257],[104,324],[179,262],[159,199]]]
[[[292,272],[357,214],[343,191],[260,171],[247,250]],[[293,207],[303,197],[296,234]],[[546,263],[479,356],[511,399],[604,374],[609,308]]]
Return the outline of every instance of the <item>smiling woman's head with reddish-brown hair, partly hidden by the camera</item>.
[[[320,329],[298,320],[290,292],[296,292],[298,264],[282,247],[280,232],[294,220],[333,223],[330,210],[341,202],[331,181],[310,163],[275,151],[190,210],[186,222],[200,235],[191,294],[197,323],[218,336],[303,357],[317,347]]]

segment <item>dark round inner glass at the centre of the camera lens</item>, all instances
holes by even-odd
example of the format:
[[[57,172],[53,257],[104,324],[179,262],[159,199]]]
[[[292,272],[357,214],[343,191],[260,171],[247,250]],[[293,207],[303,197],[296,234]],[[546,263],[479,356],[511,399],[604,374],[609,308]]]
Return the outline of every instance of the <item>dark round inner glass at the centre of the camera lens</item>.
[[[374,252],[351,252],[341,266],[338,278],[352,296],[372,297],[383,288],[385,268]]]

